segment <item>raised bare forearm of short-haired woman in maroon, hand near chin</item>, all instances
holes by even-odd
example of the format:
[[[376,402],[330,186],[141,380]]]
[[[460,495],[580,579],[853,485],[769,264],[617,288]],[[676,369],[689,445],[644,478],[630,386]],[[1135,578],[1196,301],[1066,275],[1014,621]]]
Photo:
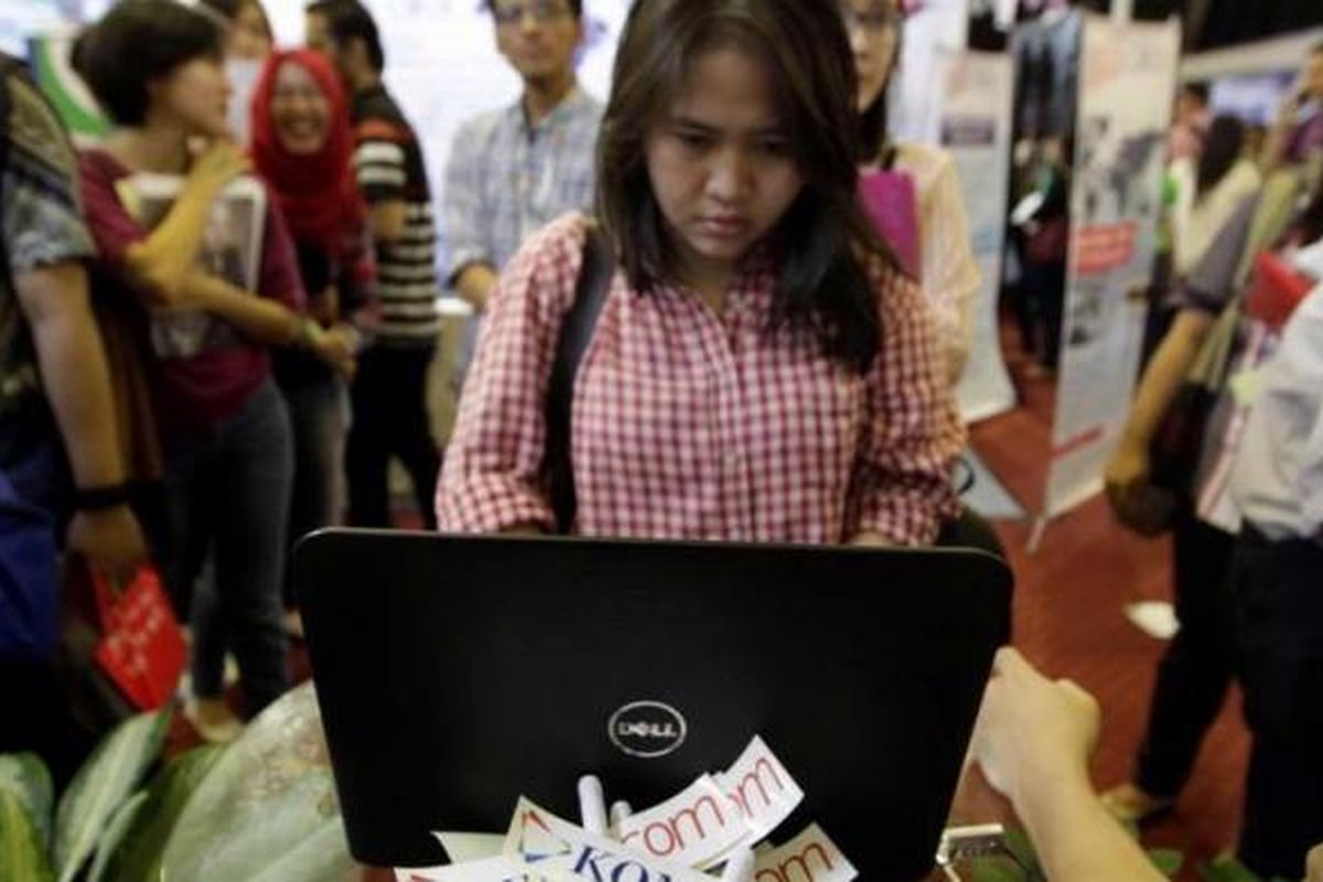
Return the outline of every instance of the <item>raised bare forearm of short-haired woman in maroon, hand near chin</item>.
[[[165,218],[126,251],[128,272],[149,303],[173,300],[193,272],[217,193],[209,182],[185,179]]]

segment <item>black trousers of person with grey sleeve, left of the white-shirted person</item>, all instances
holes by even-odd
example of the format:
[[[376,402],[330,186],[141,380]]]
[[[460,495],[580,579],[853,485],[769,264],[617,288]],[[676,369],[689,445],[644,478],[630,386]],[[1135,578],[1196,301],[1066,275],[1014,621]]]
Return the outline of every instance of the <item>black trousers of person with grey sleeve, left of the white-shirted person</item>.
[[[1174,799],[1232,682],[1233,631],[1226,571],[1236,537],[1183,513],[1172,537],[1172,592],[1180,631],[1158,664],[1135,783]]]

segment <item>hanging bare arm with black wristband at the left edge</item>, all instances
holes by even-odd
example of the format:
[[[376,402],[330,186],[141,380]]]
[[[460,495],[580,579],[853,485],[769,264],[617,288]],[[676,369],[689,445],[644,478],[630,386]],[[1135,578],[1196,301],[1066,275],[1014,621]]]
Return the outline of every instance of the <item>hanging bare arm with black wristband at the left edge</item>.
[[[16,274],[13,283],[74,484],[79,489],[123,485],[114,398],[86,271],[77,263],[40,267]],[[112,573],[130,571],[147,558],[127,505],[78,512],[69,526],[69,547]]]

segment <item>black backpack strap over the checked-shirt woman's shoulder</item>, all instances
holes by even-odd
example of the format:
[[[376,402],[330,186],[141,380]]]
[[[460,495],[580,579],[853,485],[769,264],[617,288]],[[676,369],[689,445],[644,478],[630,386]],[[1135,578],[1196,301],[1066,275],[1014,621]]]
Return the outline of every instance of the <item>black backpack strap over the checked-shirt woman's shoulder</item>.
[[[570,459],[570,411],[574,405],[574,377],[587,352],[615,275],[615,255],[610,241],[595,223],[587,227],[583,266],[574,287],[574,303],[561,320],[556,340],[556,361],[546,387],[546,446],[542,473],[556,526],[560,533],[574,529],[578,500],[574,495],[574,464]]]

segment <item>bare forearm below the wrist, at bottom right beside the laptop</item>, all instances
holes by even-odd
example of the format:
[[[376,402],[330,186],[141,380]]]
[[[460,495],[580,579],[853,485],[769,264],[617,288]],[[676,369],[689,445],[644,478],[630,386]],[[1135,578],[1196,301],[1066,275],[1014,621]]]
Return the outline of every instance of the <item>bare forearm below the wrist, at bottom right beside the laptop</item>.
[[[1098,801],[1084,770],[1050,776],[1015,800],[1052,882],[1156,882],[1163,875]]]

